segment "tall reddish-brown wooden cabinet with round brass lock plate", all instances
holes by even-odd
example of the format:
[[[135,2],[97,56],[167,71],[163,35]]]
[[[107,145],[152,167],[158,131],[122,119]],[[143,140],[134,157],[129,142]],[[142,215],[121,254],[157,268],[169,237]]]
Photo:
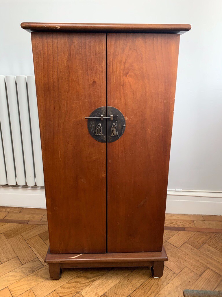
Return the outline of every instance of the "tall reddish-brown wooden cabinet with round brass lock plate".
[[[51,277],[107,266],[160,277],[179,39],[190,25],[21,26],[32,32]]]

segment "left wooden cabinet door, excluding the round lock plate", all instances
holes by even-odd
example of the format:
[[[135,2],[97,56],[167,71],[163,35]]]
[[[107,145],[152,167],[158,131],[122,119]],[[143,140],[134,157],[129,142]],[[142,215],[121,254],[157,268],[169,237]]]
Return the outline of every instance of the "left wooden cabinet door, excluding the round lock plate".
[[[106,252],[106,34],[32,33],[51,253]]]

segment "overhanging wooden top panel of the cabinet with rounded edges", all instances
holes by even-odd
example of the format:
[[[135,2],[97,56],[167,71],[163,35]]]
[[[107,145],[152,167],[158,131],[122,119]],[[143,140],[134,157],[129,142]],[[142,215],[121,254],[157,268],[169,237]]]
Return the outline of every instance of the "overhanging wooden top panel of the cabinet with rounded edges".
[[[119,33],[174,33],[191,29],[188,24],[88,24],[88,23],[21,23],[29,32],[119,32]]]

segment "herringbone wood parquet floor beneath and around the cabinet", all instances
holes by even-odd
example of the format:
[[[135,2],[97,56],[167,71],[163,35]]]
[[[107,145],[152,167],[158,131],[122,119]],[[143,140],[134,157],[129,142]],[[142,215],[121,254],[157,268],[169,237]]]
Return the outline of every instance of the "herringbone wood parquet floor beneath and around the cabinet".
[[[222,216],[167,214],[163,277],[149,268],[66,269],[49,278],[46,210],[0,207],[0,297],[180,297],[222,290]]]

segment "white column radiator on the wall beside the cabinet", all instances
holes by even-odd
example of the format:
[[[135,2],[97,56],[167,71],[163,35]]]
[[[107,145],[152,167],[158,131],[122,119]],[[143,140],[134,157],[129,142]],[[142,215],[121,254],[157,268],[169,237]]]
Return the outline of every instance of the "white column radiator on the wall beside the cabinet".
[[[0,75],[0,185],[44,186],[34,76]]]

